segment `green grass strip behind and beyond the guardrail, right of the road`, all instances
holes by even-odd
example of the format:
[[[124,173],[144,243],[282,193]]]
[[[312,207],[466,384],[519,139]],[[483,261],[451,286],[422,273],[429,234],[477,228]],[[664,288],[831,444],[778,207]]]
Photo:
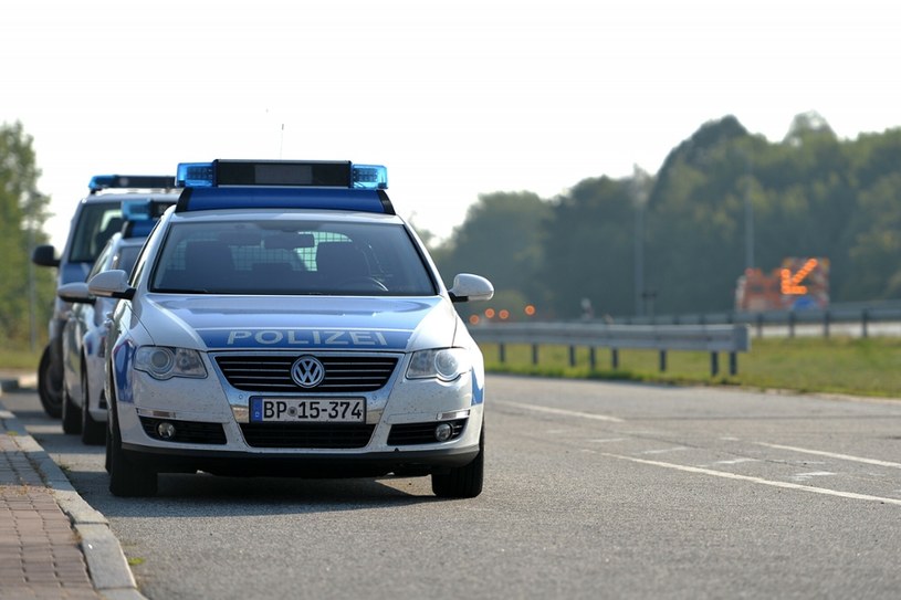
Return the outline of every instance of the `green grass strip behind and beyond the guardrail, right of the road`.
[[[504,362],[495,344],[482,345],[490,372],[580,379],[609,379],[670,385],[740,386],[797,392],[845,393],[901,399],[901,339],[899,338],[772,338],[754,339],[750,352],[740,354],[737,373],[729,373],[729,356],[719,357],[720,372],[711,376],[710,352],[667,352],[660,370],[656,350],[620,350],[619,368],[612,352],[575,349],[570,366],[568,346],[541,346],[533,364],[532,346],[507,345]]]

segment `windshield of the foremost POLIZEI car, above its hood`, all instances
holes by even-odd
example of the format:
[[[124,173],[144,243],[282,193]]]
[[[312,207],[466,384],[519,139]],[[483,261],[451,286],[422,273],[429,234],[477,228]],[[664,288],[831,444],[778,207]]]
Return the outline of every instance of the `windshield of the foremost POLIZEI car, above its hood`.
[[[151,292],[211,294],[437,294],[399,224],[341,221],[175,223]]]

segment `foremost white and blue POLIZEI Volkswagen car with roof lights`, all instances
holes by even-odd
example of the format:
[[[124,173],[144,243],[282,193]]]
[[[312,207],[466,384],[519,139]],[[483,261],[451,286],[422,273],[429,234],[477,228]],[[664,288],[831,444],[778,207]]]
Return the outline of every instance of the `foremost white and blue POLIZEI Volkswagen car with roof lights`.
[[[119,298],[106,397],[109,490],[153,495],[159,473],[431,476],[474,497],[484,470],[482,355],[388,199],[380,166],[217,160],[184,190]]]

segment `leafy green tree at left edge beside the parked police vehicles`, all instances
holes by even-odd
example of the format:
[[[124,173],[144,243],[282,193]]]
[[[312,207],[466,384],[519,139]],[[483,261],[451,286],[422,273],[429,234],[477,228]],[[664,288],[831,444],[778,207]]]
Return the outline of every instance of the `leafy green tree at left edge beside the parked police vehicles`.
[[[32,141],[21,123],[0,126],[0,335],[20,343],[34,341],[34,324],[46,323],[53,294],[52,273],[31,264],[50,215]]]

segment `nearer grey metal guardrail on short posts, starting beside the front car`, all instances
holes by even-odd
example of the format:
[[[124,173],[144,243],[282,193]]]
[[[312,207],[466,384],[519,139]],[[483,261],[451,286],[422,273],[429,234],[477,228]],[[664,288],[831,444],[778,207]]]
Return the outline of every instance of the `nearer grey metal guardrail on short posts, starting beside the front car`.
[[[667,370],[667,352],[694,350],[710,352],[711,376],[720,371],[719,352],[729,352],[730,375],[738,372],[737,352],[751,349],[747,325],[610,325],[606,323],[510,323],[488,324],[470,328],[479,343],[497,344],[499,359],[506,361],[506,345],[532,346],[532,364],[538,364],[542,345],[569,347],[569,365],[576,364],[576,348],[588,347],[589,362],[597,365],[596,348],[611,350],[612,368],[619,368],[619,350],[650,349],[659,351],[660,370]]]

